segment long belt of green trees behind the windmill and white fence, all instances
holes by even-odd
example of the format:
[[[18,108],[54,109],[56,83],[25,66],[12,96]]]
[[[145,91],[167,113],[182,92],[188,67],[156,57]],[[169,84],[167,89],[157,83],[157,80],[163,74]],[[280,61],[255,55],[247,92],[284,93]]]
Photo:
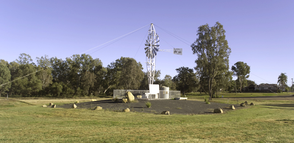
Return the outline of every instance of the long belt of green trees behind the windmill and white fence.
[[[0,96],[112,96],[114,89],[148,89],[147,73],[143,71],[142,64],[133,58],[121,57],[107,67],[103,67],[99,59],[86,54],[73,55],[65,60],[45,55],[37,57],[36,61],[37,63],[32,62],[31,57],[25,53],[10,63],[0,60],[0,84],[13,81],[0,86]],[[183,94],[207,91],[207,83],[199,82],[203,77],[196,74],[194,69],[180,67],[175,70],[178,75],[166,75],[162,80],[159,79],[160,70],[156,70],[154,84],[170,87],[170,90],[180,90]],[[233,89],[235,81],[230,81],[230,77],[226,78],[225,83],[228,84],[218,84],[214,90]]]

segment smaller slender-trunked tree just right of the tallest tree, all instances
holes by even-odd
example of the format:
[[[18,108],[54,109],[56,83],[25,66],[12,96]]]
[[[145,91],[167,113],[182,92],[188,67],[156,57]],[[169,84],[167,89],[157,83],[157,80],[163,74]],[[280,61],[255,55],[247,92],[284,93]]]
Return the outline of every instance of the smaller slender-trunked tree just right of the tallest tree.
[[[233,75],[238,77],[241,92],[243,81],[249,78],[250,66],[248,66],[247,63],[244,63],[243,61],[238,61],[234,65],[232,66],[232,71],[234,72]]]

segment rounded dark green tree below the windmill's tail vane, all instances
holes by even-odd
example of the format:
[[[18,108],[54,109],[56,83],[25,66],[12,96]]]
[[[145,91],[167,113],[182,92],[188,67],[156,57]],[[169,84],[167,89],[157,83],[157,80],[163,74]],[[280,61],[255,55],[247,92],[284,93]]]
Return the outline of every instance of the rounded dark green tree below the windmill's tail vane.
[[[182,91],[183,95],[185,92],[196,90],[198,79],[193,69],[189,67],[180,67],[175,70],[178,74],[173,77],[172,81],[175,82],[176,88]]]

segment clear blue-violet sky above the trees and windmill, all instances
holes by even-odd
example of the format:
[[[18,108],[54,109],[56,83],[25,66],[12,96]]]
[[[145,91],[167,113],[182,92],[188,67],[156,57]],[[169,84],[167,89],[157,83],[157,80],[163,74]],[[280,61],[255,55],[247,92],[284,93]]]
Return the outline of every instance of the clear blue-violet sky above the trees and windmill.
[[[246,62],[249,79],[257,83],[277,83],[278,76],[287,73],[291,85],[294,0],[0,0],[0,59],[10,62],[25,53],[34,62],[44,55],[64,60],[153,23],[160,49],[183,48],[182,56],[157,54],[156,69],[163,79],[175,76],[181,66],[196,66],[190,45],[197,39],[197,28],[217,21],[232,50],[230,67]],[[147,71],[148,28],[85,54],[103,66],[121,57],[134,58]]]

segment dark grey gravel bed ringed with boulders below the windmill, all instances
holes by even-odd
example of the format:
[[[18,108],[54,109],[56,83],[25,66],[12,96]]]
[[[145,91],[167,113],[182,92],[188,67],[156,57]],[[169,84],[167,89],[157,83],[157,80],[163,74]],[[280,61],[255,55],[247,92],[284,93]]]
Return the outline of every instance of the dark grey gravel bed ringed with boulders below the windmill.
[[[147,108],[145,102],[151,102],[151,107]],[[71,108],[72,104],[65,104],[57,106],[59,108]],[[104,110],[111,111],[122,111],[125,108],[129,108],[130,112],[145,112],[152,114],[160,114],[162,111],[170,111],[171,114],[214,114],[213,110],[215,108],[221,108],[224,112],[230,111],[229,106],[234,105],[236,109],[242,109],[239,104],[224,104],[210,102],[206,104],[205,102],[199,101],[189,101],[189,100],[149,100],[149,101],[138,101],[132,103],[122,103],[114,102],[112,100],[103,100],[96,102],[81,102],[77,103],[77,109],[86,108],[93,109],[96,106],[102,107]]]

